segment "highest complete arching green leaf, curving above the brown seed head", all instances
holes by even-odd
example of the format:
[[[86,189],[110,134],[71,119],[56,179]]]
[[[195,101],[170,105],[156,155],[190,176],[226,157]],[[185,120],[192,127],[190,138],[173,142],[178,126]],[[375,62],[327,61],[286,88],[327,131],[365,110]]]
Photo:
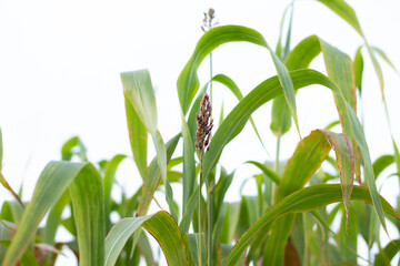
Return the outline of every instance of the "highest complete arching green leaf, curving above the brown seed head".
[[[293,120],[298,126],[297,113],[296,113],[296,102],[294,102],[294,90],[293,84],[290,80],[288,70],[283,63],[279,60],[277,54],[269,48],[264,38],[253,29],[240,27],[240,25],[223,25],[216,27],[208,32],[206,32],[202,38],[199,40],[194,52],[181,74],[178,79],[178,96],[181,104],[183,114],[189,110],[191,102],[199,89],[199,79],[197,75],[197,70],[203,59],[212,52],[217,47],[236,41],[247,41],[261,47],[267,48],[270,51],[272,61],[276,65],[279,82],[281,89],[283,89],[283,94],[288,101],[290,112],[293,116]]]

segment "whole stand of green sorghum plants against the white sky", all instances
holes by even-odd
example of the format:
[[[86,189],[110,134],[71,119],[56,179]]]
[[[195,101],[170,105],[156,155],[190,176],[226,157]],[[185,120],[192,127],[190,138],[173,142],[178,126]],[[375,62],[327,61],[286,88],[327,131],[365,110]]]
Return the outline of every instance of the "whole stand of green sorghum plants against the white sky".
[[[274,50],[258,31],[241,25],[214,27],[213,11],[206,13],[204,34],[178,78],[181,131],[167,142],[158,130],[149,71],[121,73],[133,157],[118,154],[91,163],[81,140],[72,137],[62,146],[62,161],[50,162],[44,167],[29,202],[22,202],[20,193],[12,191],[7,176],[1,175],[1,184],[14,196],[2,204],[0,212],[1,265],[54,265],[64,246],[82,266],[139,265],[140,262],[158,265],[160,257],[152,252],[151,236],[172,266],[357,265],[358,262],[389,265],[400,249],[400,239],[381,246],[379,232],[388,232],[387,223],[400,231],[397,212],[400,204],[392,207],[378,193],[376,180],[392,164],[400,172],[400,155],[393,140],[394,153],[372,162],[356,111],[362,94],[363,55],[371,59],[384,104],[378,58],[391,63],[380,49],[367,42],[351,7],[342,0],[319,2],[364,40],[353,59],[317,35],[307,37],[292,48],[293,4],[283,16],[282,21],[289,18],[290,23],[287,30],[281,29]],[[209,81],[200,89],[199,65],[219,45],[237,41],[266,48],[277,75],[243,96],[231,78],[213,75],[211,71]],[[309,69],[320,53],[328,75]],[[227,92],[238,99],[228,115],[223,110],[211,109],[213,82],[227,86]],[[292,156],[280,160],[280,139],[292,121],[299,129],[296,93],[312,84],[332,92],[339,121],[327,121],[326,129],[316,129],[307,136],[299,133]],[[224,197],[234,182],[234,171],[228,173],[219,164],[221,153],[249,121],[263,145],[251,114],[269,101],[273,102],[270,129],[277,136],[277,158],[246,162],[259,170],[259,174],[251,176],[257,193],[227,202]],[[219,117],[219,123],[213,123],[212,117]],[[331,131],[333,126],[338,131],[341,126],[342,133]],[[151,162],[148,162],[149,136],[157,152]],[[141,186],[132,195],[122,191],[114,198],[111,191],[117,184],[116,172],[123,160],[131,158],[140,173],[132,182],[141,182]],[[0,171],[1,162],[0,131]],[[321,168],[322,163],[330,164],[333,171]],[[181,200],[173,196],[171,183],[181,184],[177,186],[182,188]],[[168,211],[149,214],[157,191],[164,193]],[[330,204],[336,205],[327,208]],[[114,214],[119,217],[117,223],[111,219]],[[61,226],[73,241],[58,242],[56,235]],[[360,239],[369,249],[377,245],[378,253],[369,250],[368,257],[360,256]]]

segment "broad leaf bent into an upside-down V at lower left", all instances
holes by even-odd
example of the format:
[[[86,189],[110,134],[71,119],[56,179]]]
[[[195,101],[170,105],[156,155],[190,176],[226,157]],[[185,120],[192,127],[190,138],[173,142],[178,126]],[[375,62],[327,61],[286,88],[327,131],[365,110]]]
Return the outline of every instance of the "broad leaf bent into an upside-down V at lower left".
[[[2,265],[14,265],[21,258],[40,221],[68,187],[78,229],[79,264],[103,264],[104,214],[99,173],[89,163],[50,162],[38,180]]]

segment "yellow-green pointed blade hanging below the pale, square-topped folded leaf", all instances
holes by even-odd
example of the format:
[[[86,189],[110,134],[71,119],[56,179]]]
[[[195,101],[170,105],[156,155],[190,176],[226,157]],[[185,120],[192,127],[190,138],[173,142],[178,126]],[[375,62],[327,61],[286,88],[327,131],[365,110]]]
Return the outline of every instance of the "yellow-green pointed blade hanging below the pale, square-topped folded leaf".
[[[134,163],[140,176],[144,178],[147,170],[147,144],[148,131],[141,122],[127,95],[124,95],[129,140],[133,153]]]

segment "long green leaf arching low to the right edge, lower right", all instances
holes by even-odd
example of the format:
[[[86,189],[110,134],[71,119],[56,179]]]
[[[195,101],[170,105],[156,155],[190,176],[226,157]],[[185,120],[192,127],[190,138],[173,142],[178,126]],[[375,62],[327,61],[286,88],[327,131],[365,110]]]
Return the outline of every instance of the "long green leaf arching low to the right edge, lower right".
[[[372,204],[370,193],[364,187],[354,186],[351,198]],[[274,223],[280,216],[321,208],[328,204],[340,201],[342,201],[342,193],[340,185],[337,184],[312,185],[290,194],[280,201],[273,208],[268,211],[249,228],[248,232],[246,232],[244,235],[242,235],[230,252],[224,266],[236,265],[236,262],[238,262],[252,237],[260,229],[264,229]],[[381,197],[381,202],[384,212],[400,219],[399,214],[396,213],[383,197]]]

